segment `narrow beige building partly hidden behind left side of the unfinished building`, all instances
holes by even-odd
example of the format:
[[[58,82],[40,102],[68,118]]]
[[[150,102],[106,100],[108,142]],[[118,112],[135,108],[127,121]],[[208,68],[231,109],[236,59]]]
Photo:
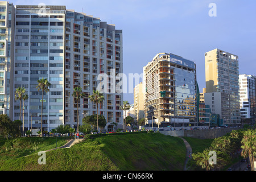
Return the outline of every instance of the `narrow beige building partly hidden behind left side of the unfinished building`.
[[[135,86],[133,90],[134,94],[134,114],[135,121],[138,122],[139,119],[144,118],[144,98],[143,98],[143,83],[140,82]]]

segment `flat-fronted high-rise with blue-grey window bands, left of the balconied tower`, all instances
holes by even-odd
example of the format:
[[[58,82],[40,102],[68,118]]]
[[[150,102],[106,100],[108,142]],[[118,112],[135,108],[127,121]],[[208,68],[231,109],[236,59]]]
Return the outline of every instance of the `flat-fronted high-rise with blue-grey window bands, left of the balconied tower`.
[[[26,88],[29,99],[24,107],[24,126],[40,128],[42,91],[38,80],[47,78],[50,91],[44,92],[43,130],[64,121],[64,38],[65,6],[15,6],[14,91]],[[13,119],[19,119],[19,101],[14,101]],[[32,123],[31,123],[32,122]],[[26,130],[26,129],[25,129]]]

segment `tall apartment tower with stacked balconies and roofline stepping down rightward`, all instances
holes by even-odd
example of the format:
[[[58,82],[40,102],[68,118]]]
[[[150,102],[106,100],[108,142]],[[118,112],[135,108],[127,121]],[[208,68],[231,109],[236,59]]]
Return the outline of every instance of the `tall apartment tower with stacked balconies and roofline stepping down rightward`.
[[[105,75],[105,85],[100,88],[104,92],[104,103],[99,106],[99,113],[106,118],[108,131],[111,123],[122,128],[123,95],[115,90],[119,81],[115,76],[122,73],[122,30],[116,30],[113,24],[101,22],[99,18],[66,11],[65,22],[65,123],[77,125],[86,115],[96,114],[96,104],[89,101],[93,90],[98,89]],[[77,103],[71,95],[73,89],[81,86],[85,98]],[[100,90],[101,90],[100,89]],[[77,104],[80,110],[77,113]],[[80,122],[81,123],[81,122]]]

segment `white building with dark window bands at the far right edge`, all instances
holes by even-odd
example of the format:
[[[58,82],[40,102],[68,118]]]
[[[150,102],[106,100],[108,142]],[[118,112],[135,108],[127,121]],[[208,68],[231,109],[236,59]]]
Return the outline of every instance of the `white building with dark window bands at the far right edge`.
[[[241,119],[256,119],[256,76],[239,75]]]

